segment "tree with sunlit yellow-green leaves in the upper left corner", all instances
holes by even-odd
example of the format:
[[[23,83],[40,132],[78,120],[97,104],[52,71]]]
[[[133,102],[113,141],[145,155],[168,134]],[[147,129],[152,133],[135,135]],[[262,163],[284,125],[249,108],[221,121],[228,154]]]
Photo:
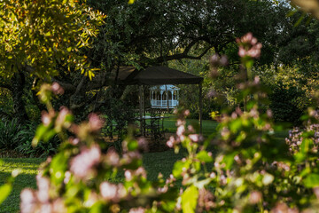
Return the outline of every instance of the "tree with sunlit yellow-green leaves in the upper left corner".
[[[13,113],[20,122],[27,120],[27,81],[50,82],[70,70],[94,75],[81,49],[89,47],[89,37],[97,36],[103,18],[73,0],[0,3],[0,87],[11,91]]]

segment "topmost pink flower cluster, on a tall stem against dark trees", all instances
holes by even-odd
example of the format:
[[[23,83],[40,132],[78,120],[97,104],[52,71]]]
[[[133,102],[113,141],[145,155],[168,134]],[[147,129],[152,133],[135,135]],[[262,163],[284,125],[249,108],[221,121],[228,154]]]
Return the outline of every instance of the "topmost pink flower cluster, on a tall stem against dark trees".
[[[236,42],[239,44],[238,55],[241,58],[248,56],[253,59],[258,59],[261,57],[262,44],[258,43],[257,38],[253,37],[252,33],[247,33],[245,36],[237,38]]]

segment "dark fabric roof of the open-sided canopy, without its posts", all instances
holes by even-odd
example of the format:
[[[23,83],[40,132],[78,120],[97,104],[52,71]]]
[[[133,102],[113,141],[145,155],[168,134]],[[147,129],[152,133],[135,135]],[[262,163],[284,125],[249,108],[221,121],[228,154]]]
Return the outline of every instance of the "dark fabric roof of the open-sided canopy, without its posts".
[[[143,70],[121,67],[118,78],[121,83],[128,85],[198,84],[203,81],[202,77],[163,66],[147,67]]]

